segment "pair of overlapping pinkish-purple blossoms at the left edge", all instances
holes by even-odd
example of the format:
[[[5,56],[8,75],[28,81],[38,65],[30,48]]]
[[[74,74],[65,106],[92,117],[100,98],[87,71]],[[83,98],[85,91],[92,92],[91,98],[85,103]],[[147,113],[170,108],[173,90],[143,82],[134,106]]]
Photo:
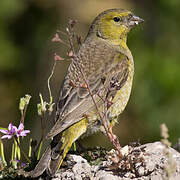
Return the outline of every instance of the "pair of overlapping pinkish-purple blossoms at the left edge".
[[[0,132],[5,134],[4,136],[1,137],[1,139],[11,139],[13,136],[26,136],[27,133],[30,133],[29,130],[24,130],[24,125],[23,123],[19,124],[19,127],[17,128],[16,126],[13,126],[12,123],[9,124],[8,130],[5,129],[0,129]]]

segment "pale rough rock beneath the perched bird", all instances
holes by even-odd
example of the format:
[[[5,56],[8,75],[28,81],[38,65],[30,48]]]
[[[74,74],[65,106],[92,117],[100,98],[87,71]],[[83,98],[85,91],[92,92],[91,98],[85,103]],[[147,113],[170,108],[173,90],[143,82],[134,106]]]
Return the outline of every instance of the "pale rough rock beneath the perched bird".
[[[79,155],[68,155],[67,167],[61,168],[52,180],[180,180],[180,153],[161,142],[134,147],[143,149],[143,163],[133,164],[133,170],[110,170],[109,160],[90,165]],[[113,163],[111,164],[113,166]],[[118,171],[117,171],[118,170]]]

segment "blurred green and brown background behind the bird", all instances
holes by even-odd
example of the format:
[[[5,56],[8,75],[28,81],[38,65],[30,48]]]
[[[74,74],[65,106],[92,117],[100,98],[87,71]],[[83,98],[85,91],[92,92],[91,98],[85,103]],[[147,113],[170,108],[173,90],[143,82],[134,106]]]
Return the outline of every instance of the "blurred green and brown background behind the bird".
[[[52,43],[57,29],[64,30],[69,18],[77,19],[76,30],[85,37],[89,25],[109,8],[132,10],[145,19],[128,37],[135,61],[130,101],[114,127],[125,145],[160,140],[160,124],[169,128],[170,141],[180,136],[180,1],[179,0],[0,0],[0,126],[18,125],[19,98],[32,96],[25,129],[40,138],[36,104],[39,92],[48,100],[47,78],[53,54],[65,56],[63,45]],[[52,79],[57,99],[68,62],[58,63]],[[53,117],[48,120],[49,128]],[[6,142],[6,140],[5,140]],[[83,139],[87,146],[109,146],[98,133]]]

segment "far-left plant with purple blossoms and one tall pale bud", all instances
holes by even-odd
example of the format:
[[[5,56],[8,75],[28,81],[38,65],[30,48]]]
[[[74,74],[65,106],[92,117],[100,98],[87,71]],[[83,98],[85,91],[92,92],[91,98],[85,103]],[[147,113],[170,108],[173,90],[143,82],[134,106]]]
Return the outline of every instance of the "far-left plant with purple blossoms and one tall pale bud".
[[[23,138],[30,133],[30,130],[24,129],[24,118],[27,110],[27,106],[31,99],[30,95],[25,95],[25,97],[20,99],[19,110],[21,112],[21,120],[18,127],[14,126],[12,123],[8,125],[8,128],[1,128],[0,132],[4,135],[0,139],[0,157],[1,161],[1,172],[0,177],[16,177],[16,171],[18,169],[24,168],[27,164],[31,163],[30,158],[24,152],[21,144]],[[2,139],[13,139],[11,159],[7,163],[4,155],[4,145]],[[26,163],[22,162],[21,154],[24,156]]]

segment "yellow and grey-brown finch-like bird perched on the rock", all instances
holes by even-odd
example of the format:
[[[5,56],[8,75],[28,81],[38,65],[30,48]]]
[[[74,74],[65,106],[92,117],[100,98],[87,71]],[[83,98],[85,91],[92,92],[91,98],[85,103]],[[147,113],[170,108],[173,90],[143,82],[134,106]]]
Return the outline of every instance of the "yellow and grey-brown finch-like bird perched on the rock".
[[[45,170],[53,176],[73,142],[84,135],[104,132],[99,113],[105,112],[108,126],[116,124],[133,82],[134,61],[127,36],[143,21],[120,8],[105,10],[93,20],[62,83],[56,121],[46,136],[52,142],[31,177]]]

